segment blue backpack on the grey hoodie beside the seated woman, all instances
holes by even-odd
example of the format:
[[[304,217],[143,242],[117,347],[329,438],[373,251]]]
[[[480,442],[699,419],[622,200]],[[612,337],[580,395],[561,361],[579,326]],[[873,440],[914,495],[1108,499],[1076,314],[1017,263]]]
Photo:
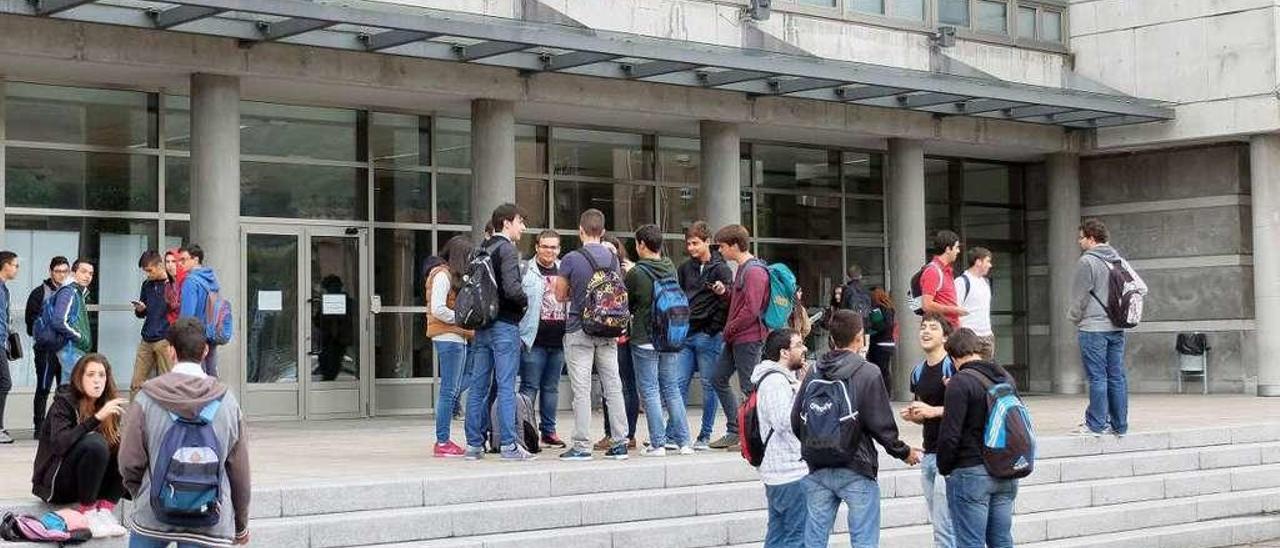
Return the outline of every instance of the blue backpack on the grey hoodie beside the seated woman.
[[[160,522],[178,528],[210,528],[221,520],[223,447],[214,433],[221,398],[193,419],[169,412],[151,469],[151,511]]]

